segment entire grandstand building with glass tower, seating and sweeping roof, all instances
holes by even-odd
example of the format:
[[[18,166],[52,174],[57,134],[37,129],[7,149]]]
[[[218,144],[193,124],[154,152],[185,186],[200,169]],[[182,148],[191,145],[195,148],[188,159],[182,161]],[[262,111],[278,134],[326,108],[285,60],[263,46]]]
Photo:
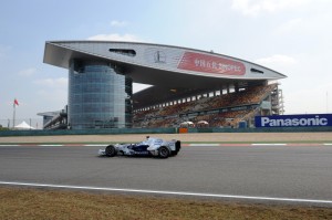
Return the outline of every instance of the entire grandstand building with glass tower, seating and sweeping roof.
[[[283,114],[277,82],[286,75],[211,51],[51,41],[44,63],[69,70],[68,107],[39,114],[44,129],[239,127]],[[152,86],[133,94],[133,83]]]

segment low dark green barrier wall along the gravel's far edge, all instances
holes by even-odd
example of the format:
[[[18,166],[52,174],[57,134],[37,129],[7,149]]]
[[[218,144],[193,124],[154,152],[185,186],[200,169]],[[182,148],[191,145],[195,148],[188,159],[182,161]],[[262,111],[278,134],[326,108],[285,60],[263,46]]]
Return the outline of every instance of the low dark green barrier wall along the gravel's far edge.
[[[188,133],[314,133],[332,132],[329,127],[271,127],[271,128],[188,128]],[[177,134],[178,128],[120,128],[82,130],[0,130],[4,136],[50,136],[50,135],[126,135],[126,134]]]

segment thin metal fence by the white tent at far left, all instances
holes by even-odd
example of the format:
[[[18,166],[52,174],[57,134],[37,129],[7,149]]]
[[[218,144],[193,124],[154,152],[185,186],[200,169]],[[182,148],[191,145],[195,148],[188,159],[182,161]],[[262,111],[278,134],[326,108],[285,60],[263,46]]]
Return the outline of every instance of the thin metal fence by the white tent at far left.
[[[4,128],[9,128],[9,129],[18,129],[15,128],[18,125],[25,123],[28,124],[31,128],[28,129],[42,129],[43,128],[43,119],[42,117],[40,118],[15,118],[15,121],[13,121],[12,118],[8,118],[8,119],[0,119],[0,126],[4,127]]]

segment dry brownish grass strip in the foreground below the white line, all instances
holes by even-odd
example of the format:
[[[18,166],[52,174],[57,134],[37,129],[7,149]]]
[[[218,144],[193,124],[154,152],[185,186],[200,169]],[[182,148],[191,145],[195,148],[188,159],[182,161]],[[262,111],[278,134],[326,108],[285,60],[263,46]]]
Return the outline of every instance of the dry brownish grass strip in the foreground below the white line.
[[[332,219],[331,208],[0,187],[0,219]]]

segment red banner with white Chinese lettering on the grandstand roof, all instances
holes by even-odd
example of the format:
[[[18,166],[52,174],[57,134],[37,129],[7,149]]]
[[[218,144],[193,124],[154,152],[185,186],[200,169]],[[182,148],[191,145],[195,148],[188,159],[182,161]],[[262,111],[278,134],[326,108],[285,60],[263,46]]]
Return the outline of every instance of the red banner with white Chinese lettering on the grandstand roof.
[[[241,62],[194,52],[185,52],[177,67],[187,71],[224,75],[246,74],[246,66]]]

